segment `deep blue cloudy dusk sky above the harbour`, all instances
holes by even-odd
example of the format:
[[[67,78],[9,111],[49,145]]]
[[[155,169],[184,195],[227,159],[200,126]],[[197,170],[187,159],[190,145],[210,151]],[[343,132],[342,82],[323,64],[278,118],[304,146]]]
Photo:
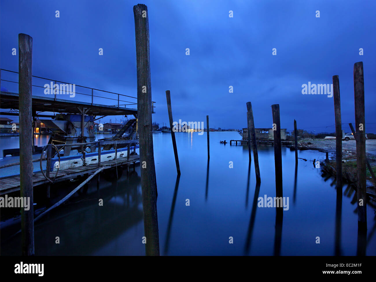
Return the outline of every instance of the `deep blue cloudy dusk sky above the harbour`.
[[[295,119],[298,129],[334,132],[333,97],[303,95],[302,85],[308,81],[331,84],[332,76],[339,75],[347,133],[347,124],[355,124],[353,66],[363,61],[365,130],[376,132],[376,1],[141,3],[148,7],[150,27],[152,100],[156,102],[152,119],[160,126],[168,123],[165,90],[170,90],[174,121],[206,125],[209,115],[210,127],[241,129],[247,126],[246,102],[250,101],[256,128],[271,127],[271,105],[279,104],[281,128],[293,130]],[[2,0],[0,66],[18,71],[18,54],[12,55],[12,48],[18,53],[18,34],[25,33],[33,38],[33,75],[136,97],[136,4],[129,0]],[[11,80],[6,75],[2,71],[2,79]],[[8,84],[2,81],[3,86]],[[42,90],[33,89],[33,95],[44,95]],[[100,95],[110,98],[104,92]],[[83,95],[64,97],[79,96],[82,101],[91,100]],[[117,104],[100,98],[94,103],[102,101]],[[18,116],[8,117],[18,121]],[[101,122],[110,118],[114,122],[114,116]]]

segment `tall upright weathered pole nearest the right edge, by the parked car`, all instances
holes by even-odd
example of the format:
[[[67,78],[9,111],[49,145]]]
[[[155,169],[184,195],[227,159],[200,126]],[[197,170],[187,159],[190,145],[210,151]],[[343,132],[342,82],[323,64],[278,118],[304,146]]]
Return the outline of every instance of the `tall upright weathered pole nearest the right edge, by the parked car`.
[[[363,62],[354,64],[354,98],[356,130],[356,187],[358,197],[358,229],[367,230],[367,195],[365,175],[365,117]]]

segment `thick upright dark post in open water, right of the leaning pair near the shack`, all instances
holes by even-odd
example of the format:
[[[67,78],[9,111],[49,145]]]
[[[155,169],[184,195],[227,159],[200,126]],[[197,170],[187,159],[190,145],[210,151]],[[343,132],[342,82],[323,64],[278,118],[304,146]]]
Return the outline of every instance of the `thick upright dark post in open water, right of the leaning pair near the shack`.
[[[281,149],[281,126],[279,118],[279,104],[271,106],[273,114],[273,135],[274,135],[274,165],[276,169],[276,197],[283,197],[282,193],[282,149]],[[283,209],[277,208],[283,211]]]

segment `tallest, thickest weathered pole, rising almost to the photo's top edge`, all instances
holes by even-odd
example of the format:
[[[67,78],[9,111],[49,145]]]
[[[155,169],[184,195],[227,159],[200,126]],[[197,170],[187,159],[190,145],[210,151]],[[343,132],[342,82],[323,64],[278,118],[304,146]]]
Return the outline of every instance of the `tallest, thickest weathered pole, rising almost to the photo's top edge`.
[[[137,118],[141,163],[146,255],[159,256],[156,178],[152,134],[152,87],[150,78],[149,18],[147,6],[133,6],[137,61]],[[146,91],[146,92],[145,92]],[[140,238],[141,240],[141,238]]]

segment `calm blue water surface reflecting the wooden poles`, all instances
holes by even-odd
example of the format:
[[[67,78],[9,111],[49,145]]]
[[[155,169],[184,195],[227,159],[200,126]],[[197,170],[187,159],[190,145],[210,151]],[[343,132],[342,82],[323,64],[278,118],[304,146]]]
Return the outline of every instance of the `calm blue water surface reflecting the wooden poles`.
[[[351,203],[355,191],[343,187],[341,212],[336,213],[340,202],[336,201],[334,179],[322,178],[312,163],[324,159],[324,153],[300,151],[299,157],[308,161],[299,159],[296,172],[294,152],[282,147],[283,196],[289,198],[289,209],[283,212],[283,220],[276,222],[275,208],[257,205],[258,197],[276,193],[273,146],[258,146],[261,185],[257,187],[247,146],[219,143],[240,139],[237,132],[210,133],[209,162],[206,132],[176,133],[180,178],[176,177],[171,135],[154,133],[153,139],[161,255],[356,255],[358,222],[356,204]],[[79,183],[55,186],[52,197],[62,198]],[[38,197],[42,203],[44,191],[35,193],[39,213],[43,204],[38,204]],[[103,207],[98,199],[103,199]],[[366,254],[376,255],[374,208],[367,207],[367,216]],[[336,225],[336,218],[340,224]],[[1,222],[3,255],[20,254],[20,234],[12,236],[19,228],[17,217]],[[60,244],[55,244],[56,236]],[[101,177],[99,192],[96,180],[92,181],[86,193],[76,193],[67,204],[42,218],[35,225],[35,254],[145,255],[143,236],[136,167],[128,176],[124,172],[119,181]]]

